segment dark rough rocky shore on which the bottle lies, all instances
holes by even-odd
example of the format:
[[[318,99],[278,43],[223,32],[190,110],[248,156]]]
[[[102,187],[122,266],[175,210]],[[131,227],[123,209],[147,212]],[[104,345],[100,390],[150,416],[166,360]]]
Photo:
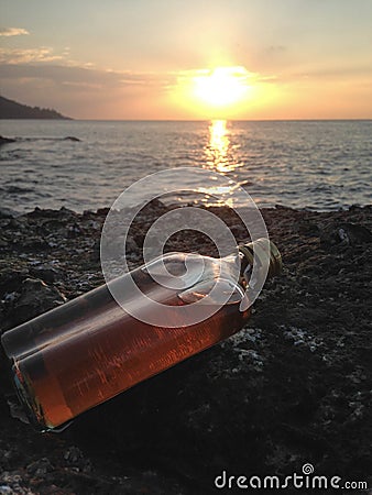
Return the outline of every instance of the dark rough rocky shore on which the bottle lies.
[[[131,267],[141,263],[149,226],[166,210],[152,202],[131,229]],[[1,331],[102,284],[107,212],[0,210]],[[214,212],[247,241],[231,210]],[[223,470],[284,480],[306,463],[314,474],[340,476],[340,486],[365,481],[372,488],[372,207],[262,215],[284,271],[228,341],[62,433],[37,433],[13,417],[1,363],[0,494],[208,494]],[[212,252],[189,233],[167,248]]]

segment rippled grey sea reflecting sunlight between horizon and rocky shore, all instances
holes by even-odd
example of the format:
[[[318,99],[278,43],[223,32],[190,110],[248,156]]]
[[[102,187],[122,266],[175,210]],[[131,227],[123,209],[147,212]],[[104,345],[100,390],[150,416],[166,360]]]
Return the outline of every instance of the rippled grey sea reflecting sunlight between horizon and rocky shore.
[[[20,212],[111,206],[135,180],[182,166],[222,174],[259,207],[372,202],[372,121],[2,120],[0,134],[17,138],[0,147],[0,207]],[[216,202],[199,182],[167,200]]]

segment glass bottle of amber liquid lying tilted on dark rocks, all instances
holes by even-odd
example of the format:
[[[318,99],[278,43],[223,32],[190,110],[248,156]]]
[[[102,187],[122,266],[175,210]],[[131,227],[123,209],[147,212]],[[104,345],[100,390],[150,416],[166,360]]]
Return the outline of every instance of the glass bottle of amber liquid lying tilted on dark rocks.
[[[120,285],[127,308],[136,306],[136,315],[145,316],[146,298],[133,296],[132,277],[142,294],[162,304],[164,327],[131,316],[112,297],[109,284],[6,331],[2,348],[30,421],[42,431],[58,430],[87,409],[238,332],[250,316],[244,290],[253,252],[260,263],[262,245],[258,240],[222,258],[168,253],[110,283]],[[275,275],[281,255],[273,243],[265,245],[269,275]],[[204,270],[194,283],[193,271],[199,270],[200,257]],[[187,265],[192,283],[182,288],[160,284],[151,276],[160,262],[174,276],[182,275]],[[232,276],[237,266],[238,282]],[[204,299],[211,285],[217,289],[207,305],[212,309],[210,316],[188,324],[200,309],[193,302]],[[221,304],[223,294],[228,299]],[[179,307],[186,311],[182,317]]]

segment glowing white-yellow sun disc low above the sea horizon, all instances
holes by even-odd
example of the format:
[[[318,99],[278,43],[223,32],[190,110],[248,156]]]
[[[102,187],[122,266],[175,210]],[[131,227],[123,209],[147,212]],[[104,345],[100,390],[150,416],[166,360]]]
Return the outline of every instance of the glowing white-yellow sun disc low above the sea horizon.
[[[193,92],[207,107],[230,107],[242,101],[249,92],[248,79],[249,73],[244,67],[200,70],[193,77]]]

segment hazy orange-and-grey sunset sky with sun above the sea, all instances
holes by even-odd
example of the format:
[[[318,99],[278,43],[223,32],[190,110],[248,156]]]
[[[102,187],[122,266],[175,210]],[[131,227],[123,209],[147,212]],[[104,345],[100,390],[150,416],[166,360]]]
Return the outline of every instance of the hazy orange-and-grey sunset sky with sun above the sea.
[[[372,0],[0,0],[0,94],[76,119],[371,119]]]

